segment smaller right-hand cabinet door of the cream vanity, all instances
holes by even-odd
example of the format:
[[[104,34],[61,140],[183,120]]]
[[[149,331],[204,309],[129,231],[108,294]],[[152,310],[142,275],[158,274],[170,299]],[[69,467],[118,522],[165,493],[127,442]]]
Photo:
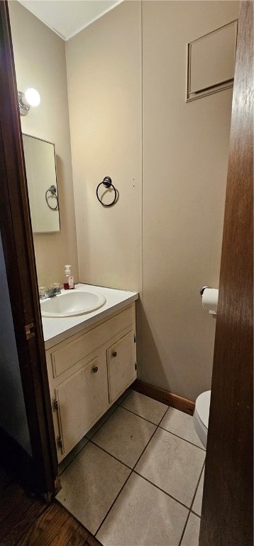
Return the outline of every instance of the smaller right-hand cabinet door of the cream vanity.
[[[109,378],[109,402],[114,402],[136,379],[136,343],[134,331],[111,345],[106,351]]]

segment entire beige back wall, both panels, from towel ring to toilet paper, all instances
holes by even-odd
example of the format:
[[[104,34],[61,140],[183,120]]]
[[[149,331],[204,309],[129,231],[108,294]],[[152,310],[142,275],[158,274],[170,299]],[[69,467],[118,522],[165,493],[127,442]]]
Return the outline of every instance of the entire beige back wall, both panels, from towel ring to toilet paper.
[[[140,7],[125,1],[67,43],[79,274],[140,290],[138,375],[194,399],[211,386],[216,321],[199,289],[219,283],[232,92],[186,104],[186,50],[238,3],[143,2],[143,68]],[[95,196],[106,175],[112,209]]]

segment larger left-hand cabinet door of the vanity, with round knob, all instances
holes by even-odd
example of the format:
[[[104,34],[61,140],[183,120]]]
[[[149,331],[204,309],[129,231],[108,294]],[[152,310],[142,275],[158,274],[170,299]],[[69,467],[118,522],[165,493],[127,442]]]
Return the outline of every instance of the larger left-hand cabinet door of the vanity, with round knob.
[[[62,454],[66,455],[109,407],[105,358],[89,360],[55,388],[55,397]]]

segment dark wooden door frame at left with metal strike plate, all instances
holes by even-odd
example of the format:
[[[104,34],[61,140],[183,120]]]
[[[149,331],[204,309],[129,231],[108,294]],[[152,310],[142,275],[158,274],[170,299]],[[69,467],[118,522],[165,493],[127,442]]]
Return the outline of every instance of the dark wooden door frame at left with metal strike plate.
[[[0,230],[33,453],[34,485],[55,492],[57,456],[7,2],[0,2]],[[31,324],[31,336],[26,326]],[[32,470],[32,469],[31,469]]]

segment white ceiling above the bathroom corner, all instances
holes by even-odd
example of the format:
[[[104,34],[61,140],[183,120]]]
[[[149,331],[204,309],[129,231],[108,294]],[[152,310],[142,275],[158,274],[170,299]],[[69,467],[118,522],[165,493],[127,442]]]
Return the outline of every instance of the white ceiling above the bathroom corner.
[[[63,40],[82,31],[123,0],[18,0]]]

